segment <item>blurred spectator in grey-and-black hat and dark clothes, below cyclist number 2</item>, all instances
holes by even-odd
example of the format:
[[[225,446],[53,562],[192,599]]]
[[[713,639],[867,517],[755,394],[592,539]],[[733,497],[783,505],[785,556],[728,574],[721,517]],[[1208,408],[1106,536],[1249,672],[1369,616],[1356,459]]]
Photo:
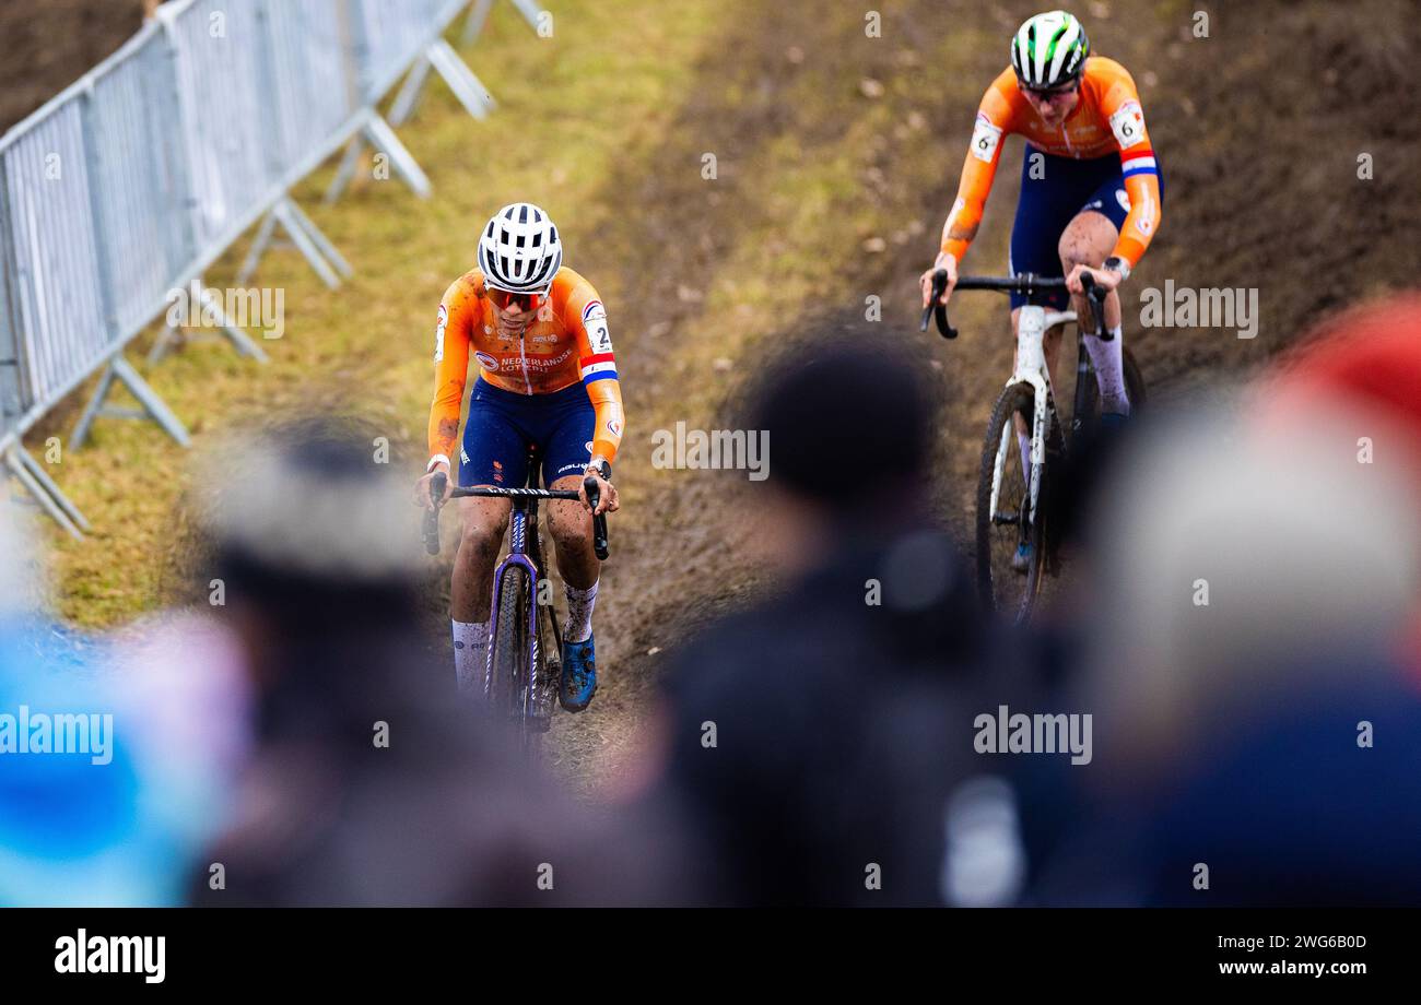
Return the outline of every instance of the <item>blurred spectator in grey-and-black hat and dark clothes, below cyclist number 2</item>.
[[[408,491],[372,440],[313,420],[222,454],[212,573],[256,688],[256,751],[195,903],[654,901],[664,849],[563,798],[450,700]]]

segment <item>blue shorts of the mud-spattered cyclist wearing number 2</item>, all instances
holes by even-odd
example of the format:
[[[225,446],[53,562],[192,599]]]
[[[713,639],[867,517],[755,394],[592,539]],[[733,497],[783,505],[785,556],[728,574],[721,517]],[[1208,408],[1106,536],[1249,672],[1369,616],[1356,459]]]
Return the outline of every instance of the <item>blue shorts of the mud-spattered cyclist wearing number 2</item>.
[[[581,382],[551,395],[517,395],[473,385],[459,450],[460,485],[527,484],[527,451],[537,447],[543,485],[581,474],[593,458],[595,410]]]

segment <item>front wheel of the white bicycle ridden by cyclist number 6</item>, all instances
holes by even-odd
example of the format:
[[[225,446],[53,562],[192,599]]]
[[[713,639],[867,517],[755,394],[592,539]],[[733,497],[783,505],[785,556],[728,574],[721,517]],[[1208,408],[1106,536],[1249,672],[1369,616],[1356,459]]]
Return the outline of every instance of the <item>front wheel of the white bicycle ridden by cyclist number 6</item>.
[[[983,606],[1016,623],[1030,617],[1046,572],[1046,549],[1042,547],[1044,507],[1039,505],[1036,518],[1032,517],[1030,484],[1022,467],[1015,424],[1015,416],[1022,416],[1030,429],[1034,409],[1036,390],[1029,383],[1015,383],[1002,392],[982,441],[978,474],[978,592]],[[1044,458],[1040,463],[1044,464]],[[1043,485],[1044,474],[1043,470]],[[1023,545],[1027,549],[1026,568],[1019,569],[1017,552]]]

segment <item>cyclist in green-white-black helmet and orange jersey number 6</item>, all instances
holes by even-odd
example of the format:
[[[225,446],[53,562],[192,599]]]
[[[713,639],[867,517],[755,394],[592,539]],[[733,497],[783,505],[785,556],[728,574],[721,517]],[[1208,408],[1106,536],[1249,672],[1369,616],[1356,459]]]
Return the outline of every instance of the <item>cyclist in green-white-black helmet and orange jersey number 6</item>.
[[[1140,263],[1160,229],[1161,175],[1135,82],[1114,60],[1090,55],[1080,21],[1066,11],[1029,18],[1012,40],[1012,65],[982,97],[958,197],[942,227],[942,247],[922,275],[922,302],[932,273],[948,273],[946,304],[958,265],[976,237],[982,209],[1002,158],[1002,138],[1020,133],[1027,152],[1022,196],[1012,229],[1013,274],[1064,275],[1073,307],[1093,326],[1080,277],[1090,273],[1110,294],[1103,341],[1086,336],[1100,382],[1101,410],[1111,420],[1128,414],[1121,363],[1120,295],[1115,288]],[[1064,294],[1047,298],[1066,307]],[[1025,297],[1012,297],[1012,325]],[[1046,336],[1054,378],[1060,328]],[[1025,437],[1025,430],[1019,429]]]

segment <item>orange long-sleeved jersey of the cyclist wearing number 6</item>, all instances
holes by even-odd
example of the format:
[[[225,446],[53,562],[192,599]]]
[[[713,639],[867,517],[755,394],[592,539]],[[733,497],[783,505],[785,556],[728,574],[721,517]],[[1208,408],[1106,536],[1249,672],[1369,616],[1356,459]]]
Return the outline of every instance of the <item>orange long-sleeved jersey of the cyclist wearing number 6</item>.
[[[958,197],[944,229],[942,250],[962,261],[982,223],[982,210],[1002,158],[1002,138],[1012,133],[1025,136],[1027,143],[1053,159],[1098,160],[1120,155],[1118,173],[1124,177],[1128,213],[1121,220],[1113,219],[1120,230],[1113,254],[1131,267],[1137,265],[1160,229],[1160,170],[1134,79],[1118,62],[1098,55],[1086,60],[1080,99],[1059,126],[1047,126],[1042,121],[1022,95],[1010,67],[992,81],[978,108]],[[1023,263],[1013,261],[1013,267],[1026,271]]]

